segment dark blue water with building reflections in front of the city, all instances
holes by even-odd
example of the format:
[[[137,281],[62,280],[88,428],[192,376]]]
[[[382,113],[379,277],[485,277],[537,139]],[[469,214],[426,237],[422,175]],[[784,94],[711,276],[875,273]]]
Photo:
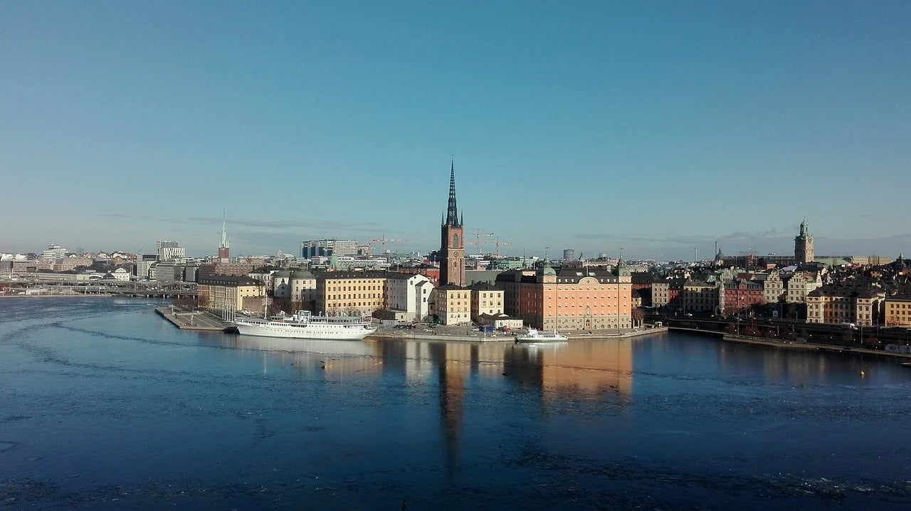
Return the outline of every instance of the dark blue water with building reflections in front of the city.
[[[283,341],[4,298],[0,507],[907,509],[909,380],[700,336]]]

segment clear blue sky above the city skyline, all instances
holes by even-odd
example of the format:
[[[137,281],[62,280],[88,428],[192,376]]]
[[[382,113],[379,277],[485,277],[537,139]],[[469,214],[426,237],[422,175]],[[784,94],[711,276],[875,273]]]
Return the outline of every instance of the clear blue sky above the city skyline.
[[[895,256],[909,127],[906,0],[7,0],[0,252]]]

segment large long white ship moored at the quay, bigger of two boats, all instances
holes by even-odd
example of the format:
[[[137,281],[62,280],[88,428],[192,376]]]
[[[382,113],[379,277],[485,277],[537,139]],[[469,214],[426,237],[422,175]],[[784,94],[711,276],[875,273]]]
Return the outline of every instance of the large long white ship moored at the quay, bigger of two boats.
[[[237,331],[244,336],[285,337],[290,339],[359,340],[373,334],[376,327],[357,316],[311,316],[310,311],[283,312],[269,318],[237,317]]]

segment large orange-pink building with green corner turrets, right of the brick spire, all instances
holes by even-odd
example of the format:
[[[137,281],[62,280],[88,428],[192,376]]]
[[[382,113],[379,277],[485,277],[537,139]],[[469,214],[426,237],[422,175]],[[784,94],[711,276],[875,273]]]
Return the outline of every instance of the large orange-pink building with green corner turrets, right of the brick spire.
[[[534,276],[521,276],[518,317],[542,330],[629,329],[631,295],[630,272],[622,264],[616,274],[544,266]]]

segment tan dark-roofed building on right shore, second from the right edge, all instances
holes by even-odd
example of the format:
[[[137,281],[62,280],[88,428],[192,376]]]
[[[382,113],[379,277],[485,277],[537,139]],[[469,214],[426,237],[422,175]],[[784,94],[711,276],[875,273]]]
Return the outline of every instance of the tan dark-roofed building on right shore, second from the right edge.
[[[873,326],[884,300],[885,291],[868,282],[827,284],[806,296],[806,322]]]

